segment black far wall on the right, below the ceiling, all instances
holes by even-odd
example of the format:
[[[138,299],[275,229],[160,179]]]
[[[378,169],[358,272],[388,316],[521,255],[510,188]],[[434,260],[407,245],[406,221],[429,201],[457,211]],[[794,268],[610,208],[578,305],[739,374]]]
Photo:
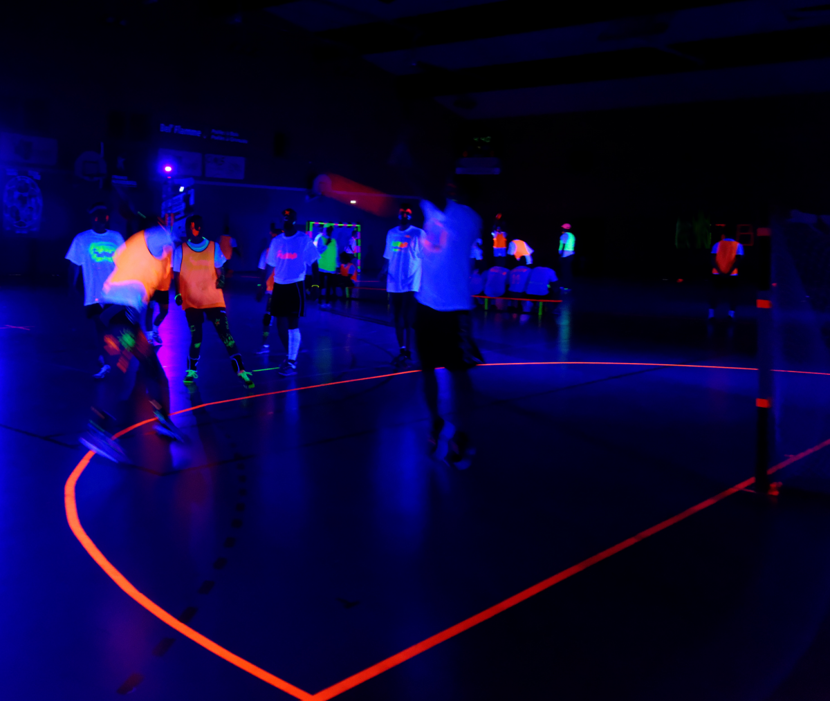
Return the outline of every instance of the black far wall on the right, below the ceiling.
[[[481,213],[504,212],[511,236],[547,252],[568,221],[584,274],[671,278],[678,216],[734,233],[790,209],[830,213],[828,116],[816,94],[482,120],[502,173]],[[705,275],[706,252],[695,260]]]

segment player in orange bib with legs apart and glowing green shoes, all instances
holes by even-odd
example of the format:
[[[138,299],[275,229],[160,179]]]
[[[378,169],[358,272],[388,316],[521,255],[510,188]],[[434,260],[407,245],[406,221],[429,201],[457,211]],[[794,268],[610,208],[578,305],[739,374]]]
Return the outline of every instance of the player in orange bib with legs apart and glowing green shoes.
[[[202,217],[198,214],[188,217],[184,226],[188,234],[187,241],[176,246],[173,251],[173,289],[176,290],[176,304],[184,309],[190,327],[190,353],[184,383],[193,384],[198,378],[196,366],[202,348],[202,324],[207,317],[225,344],[237,377],[248,389],[253,389],[253,376],[245,369],[242,354],[239,353],[227,324],[225,295],[222,294],[222,288],[225,286],[225,275],[222,270],[225,256],[216,243],[207,241],[202,236]]]

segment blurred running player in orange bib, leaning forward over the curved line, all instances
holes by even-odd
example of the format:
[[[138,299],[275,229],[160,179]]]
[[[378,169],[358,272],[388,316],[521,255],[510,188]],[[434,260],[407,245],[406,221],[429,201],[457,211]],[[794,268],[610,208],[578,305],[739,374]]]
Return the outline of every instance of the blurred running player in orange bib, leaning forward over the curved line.
[[[79,439],[82,445],[115,462],[127,460],[113,434],[124,424],[125,405],[139,373],[158,421],[156,431],[183,440],[170,419],[167,376],[140,325],[149,300],[168,277],[173,239],[164,226],[155,224],[158,217],[145,219],[149,226],[130,236],[112,255],[114,270],[101,287],[100,323],[104,327],[106,362],[112,370],[98,387],[89,427]]]

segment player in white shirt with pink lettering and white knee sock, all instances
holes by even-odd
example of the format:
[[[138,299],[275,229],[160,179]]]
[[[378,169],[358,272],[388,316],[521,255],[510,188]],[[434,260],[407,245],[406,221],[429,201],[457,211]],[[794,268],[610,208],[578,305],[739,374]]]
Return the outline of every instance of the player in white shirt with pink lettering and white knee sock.
[[[300,317],[305,314],[305,272],[320,258],[309,236],[298,233],[297,213],[293,209],[282,212],[282,230],[271,239],[266,253],[264,279],[274,274],[274,291],[268,314],[276,317],[276,333],[287,351],[279,370],[281,375],[297,374],[297,354],[300,353]],[[259,287],[256,300],[265,294]]]

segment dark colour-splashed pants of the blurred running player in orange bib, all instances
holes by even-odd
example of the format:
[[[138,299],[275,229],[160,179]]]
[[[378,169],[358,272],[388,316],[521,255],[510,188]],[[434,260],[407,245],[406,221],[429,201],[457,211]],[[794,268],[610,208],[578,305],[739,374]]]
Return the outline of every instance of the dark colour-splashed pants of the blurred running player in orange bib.
[[[136,319],[132,319],[133,316]],[[112,369],[98,384],[93,421],[106,431],[113,432],[120,428],[125,401],[134,390],[139,372],[150,403],[165,415],[170,412],[167,376],[137,318],[137,312],[128,316],[128,310],[124,307],[109,307],[101,319],[104,327],[104,362]]]

